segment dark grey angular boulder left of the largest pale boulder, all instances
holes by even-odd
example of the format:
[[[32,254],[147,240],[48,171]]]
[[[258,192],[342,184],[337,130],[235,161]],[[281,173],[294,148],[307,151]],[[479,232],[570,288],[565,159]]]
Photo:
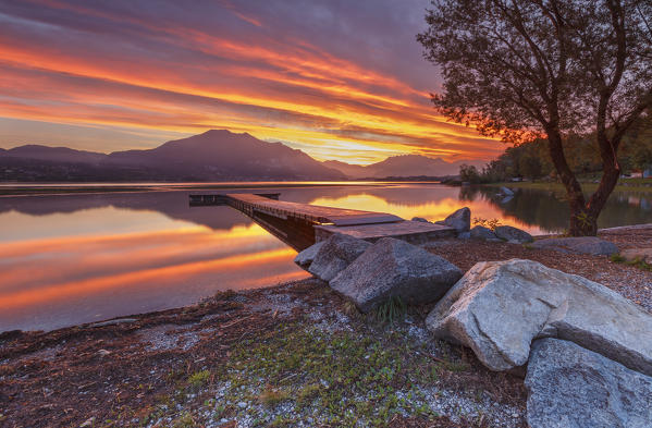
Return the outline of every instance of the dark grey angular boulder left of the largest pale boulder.
[[[367,313],[390,297],[413,305],[434,302],[459,278],[462,271],[445,259],[405,241],[383,237],[330,285]]]

